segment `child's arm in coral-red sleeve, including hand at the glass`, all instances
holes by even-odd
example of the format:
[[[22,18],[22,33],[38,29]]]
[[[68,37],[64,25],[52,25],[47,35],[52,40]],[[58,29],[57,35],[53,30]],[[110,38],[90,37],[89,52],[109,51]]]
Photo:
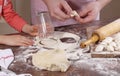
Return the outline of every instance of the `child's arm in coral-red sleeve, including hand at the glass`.
[[[30,35],[37,35],[37,26],[27,24],[12,8],[11,0],[3,6],[3,17],[5,20],[19,32],[24,32]]]

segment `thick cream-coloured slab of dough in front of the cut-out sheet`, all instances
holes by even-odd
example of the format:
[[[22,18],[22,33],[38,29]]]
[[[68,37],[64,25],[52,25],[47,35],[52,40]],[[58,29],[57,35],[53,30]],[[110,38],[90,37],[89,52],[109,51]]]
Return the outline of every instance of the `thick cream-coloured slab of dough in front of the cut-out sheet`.
[[[64,50],[39,51],[32,56],[34,66],[49,71],[65,72],[70,66]]]

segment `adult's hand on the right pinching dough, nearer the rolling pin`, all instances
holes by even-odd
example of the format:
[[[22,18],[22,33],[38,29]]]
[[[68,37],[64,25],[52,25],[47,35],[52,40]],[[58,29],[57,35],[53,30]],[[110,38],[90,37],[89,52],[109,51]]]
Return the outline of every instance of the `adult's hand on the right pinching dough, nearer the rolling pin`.
[[[80,23],[87,23],[95,20],[101,10],[99,2],[90,2],[83,6],[79,12],[80,17],[76,17],[76,20]]]

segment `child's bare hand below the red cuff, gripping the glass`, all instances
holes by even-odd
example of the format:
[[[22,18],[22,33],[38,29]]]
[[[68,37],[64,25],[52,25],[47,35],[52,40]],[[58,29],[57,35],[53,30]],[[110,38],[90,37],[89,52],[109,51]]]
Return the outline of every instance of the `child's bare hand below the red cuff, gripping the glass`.
[[[27,33],[27,34],[31,35],[31,36],[36,36],[36,35],[38,35],[38,26],[37,25],[32,25],[31,26],[31,25],[26,24],[23,27],[22,31],[24,33]]]

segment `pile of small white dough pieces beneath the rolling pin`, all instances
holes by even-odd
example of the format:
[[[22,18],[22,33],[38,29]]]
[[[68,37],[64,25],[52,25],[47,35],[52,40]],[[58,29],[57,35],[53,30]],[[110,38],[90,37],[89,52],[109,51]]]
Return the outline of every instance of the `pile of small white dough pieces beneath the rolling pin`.
[[[106,37],[96,46],[95,51],[120,51],[120,32],[111,37]]]

